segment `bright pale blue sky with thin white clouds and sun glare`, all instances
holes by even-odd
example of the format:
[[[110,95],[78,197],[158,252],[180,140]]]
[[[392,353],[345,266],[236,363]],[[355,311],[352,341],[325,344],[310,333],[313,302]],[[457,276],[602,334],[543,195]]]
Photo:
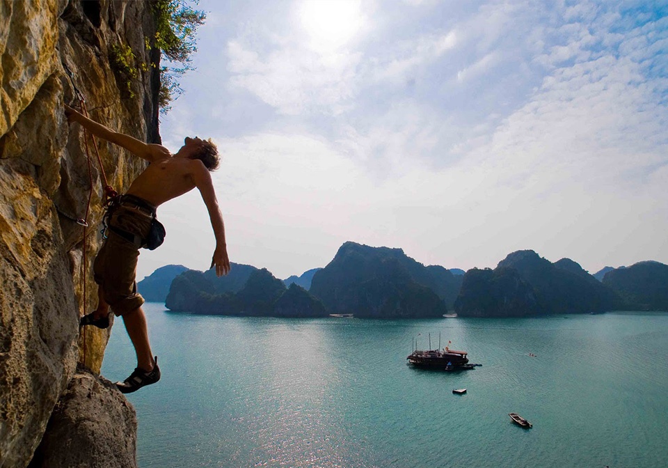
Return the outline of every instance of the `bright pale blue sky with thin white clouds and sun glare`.
[[[165,146],[211,137],[234,263],[277,278],[346,241],[424,265],[532,249],[668,263],[668,1],[201,0]],[[206,270],[196,190],[141,278]]]

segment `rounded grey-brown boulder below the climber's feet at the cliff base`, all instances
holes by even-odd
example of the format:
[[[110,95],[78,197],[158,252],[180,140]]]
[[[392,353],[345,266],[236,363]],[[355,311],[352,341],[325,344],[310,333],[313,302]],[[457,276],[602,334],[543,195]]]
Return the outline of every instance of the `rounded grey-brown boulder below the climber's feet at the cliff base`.
[[[84,368],[58,401],[30,468],[136,467],[134,407]]]

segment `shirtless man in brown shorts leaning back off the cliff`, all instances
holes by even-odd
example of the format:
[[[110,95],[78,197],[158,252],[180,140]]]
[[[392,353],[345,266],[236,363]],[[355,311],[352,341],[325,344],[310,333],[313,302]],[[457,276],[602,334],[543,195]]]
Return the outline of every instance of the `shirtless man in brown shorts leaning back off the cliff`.
[[[72,107],[65,106],[65,115],[68,121],[79,123],[95,136],[122,146],[150,163],[106,214],[107,238],[93,265],[98,285],[97,309],[84,315],[80,323],[105,329],[109,327],[110,308],[123,318],[137,354],[137,367],[116,386],[123,393],[131,393],[160,380],[160,368],[151,351],[146,318],[141,309],[144,299],[137,292],[136,283],[139,249],[150,242],[157,207],[197,187],[209,210],[216,236],[211,267],[216,267],[218,276],[230,271],[223,216],[210,175],[210,171],[218,167],[218,151],[210,141],[195,137],[186,138],[184,146],[173,155],[164,146],[114,132]]]

